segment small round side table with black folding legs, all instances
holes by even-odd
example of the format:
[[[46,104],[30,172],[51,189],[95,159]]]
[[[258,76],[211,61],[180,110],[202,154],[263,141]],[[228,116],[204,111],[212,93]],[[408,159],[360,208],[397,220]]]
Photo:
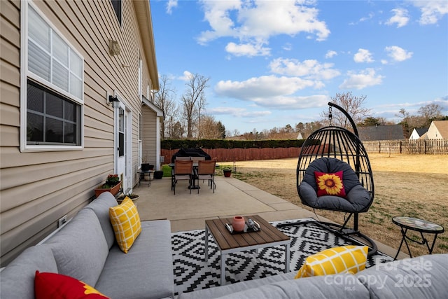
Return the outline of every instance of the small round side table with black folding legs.
[[[400,253],[400,249],[403,242],[405,242],[407,251],[409,251],[409,256],[412,258],[412,253],[411,250],[409,249],[409,245],[407,244],[407,239],[417,244],[426,245],[426,247],[428,247],[429,254],[433,253],[435,239],[437,239],[437,235],[444,232],[444,228],[441,225],[419,218],[398,216],[393,217],[392,222],[400,226],[402,235],[400,246],[398,247],[397,254],[395,255],[395,258],[393,258],[393,260],[397,259],[398,253]],[[416,232],[420,232],[421,242],[407,237],[406,236],[407,230],[414,230]],[[429,244],[428,240],[423,236],[423,232],[427,234],[434,234],[433,244],[431,245]]]

